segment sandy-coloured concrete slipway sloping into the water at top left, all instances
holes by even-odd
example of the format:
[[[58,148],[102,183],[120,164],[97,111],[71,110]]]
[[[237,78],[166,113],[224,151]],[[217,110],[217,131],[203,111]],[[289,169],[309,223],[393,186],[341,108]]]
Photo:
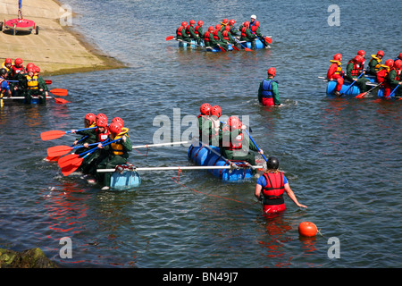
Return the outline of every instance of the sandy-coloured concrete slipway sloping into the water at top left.
[[[25,0],[22,17],[35,21],[39,27],[38,35],[32,30],[31,33],[17,32],[14,36],[4,27],[0,31],[0,41],[4,43],[0,46],[3,57],[0,61],[3,63],[6,57],[13,60],[20,57],[24,65],[38,65],[46,76],[127,68],[88,41],[78,29],[62,26],[59,22],[62,5],[59,0]],[[4,0],[0,4],[0,21],[16,19],[17,11],[15,1]],[[71,17],[74,18],[74,13]]]

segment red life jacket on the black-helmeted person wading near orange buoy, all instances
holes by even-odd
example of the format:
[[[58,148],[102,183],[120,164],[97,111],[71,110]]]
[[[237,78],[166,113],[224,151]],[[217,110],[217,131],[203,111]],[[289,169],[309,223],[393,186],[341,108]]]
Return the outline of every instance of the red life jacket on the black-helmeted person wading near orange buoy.
[[[280,205],[284,203],[285,182],[283,172],[264,172],[266,185],[263,188],[264,205]]]

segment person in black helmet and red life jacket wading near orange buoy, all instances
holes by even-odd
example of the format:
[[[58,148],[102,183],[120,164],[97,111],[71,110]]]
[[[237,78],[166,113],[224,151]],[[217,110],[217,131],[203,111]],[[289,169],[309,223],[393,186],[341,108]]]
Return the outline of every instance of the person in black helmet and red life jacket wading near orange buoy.
[[[278,170],[279,160],[276,157],[269,157],[267,170],[260,176],[255,185],[255,198],[263,204],[265,214],[275,214],[286,209],[283,194],[286,192],[289,198],[299,207],[307,207],[297,201],[295,193],[290,189],[289,181]]]

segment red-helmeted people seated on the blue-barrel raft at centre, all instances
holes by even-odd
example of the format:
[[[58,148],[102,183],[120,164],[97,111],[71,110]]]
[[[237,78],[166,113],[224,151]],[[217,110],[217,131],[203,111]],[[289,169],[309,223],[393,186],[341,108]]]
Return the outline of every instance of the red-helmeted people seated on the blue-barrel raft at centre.
[[[204,144],[220,147],[221,155],[229,160],[247,161],[255,165],[255,154],[250,150],[264,154],[254,142],[244,135],[247,126],[238,116],[230,116],[227,122],[221,122],[222,108],[205,103],[200,106],[198,115],[199,140]]]

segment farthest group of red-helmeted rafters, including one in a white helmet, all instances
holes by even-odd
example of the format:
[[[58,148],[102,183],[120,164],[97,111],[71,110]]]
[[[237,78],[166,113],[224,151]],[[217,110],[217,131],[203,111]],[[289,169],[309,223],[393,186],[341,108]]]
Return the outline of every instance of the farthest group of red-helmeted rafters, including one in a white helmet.
[[[188,43],[193,40],[197,42],[197,45],[203,43],[204,46],[220,46],[227,51],[229,45],[239,47],[244,41],[250,42],[251,49],[255,49],[255,39],[258,38],[265,47],[268,47],[255,15],[251,15],[250,21],[243,22],[239,29],[234,27],[235,22],[233,19],[223,19],[219,24],[209,26],[204,31],[204,21],[198,21],[197,26],[195,26],[196,21],[194,20],[190,20],[189,23],[183,21],[180,27],[176,29],[176,39]]]

